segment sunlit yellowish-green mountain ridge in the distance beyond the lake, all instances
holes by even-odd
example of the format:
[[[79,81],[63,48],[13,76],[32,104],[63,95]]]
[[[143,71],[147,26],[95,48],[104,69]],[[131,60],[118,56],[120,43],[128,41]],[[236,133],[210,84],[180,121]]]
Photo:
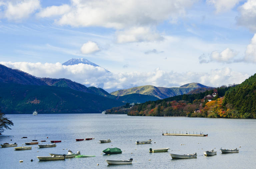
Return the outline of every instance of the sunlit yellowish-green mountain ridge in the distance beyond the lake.
[[[127,94],[138,93],[138,94],[155,96],[159,99],[165,99],[168,97],[187,94],[199,88],[213,89],[213,87],[205,86],[200,83],[188,83],[180,87],[170,87],[170,88],[146,85],[146,86],[132,87],[129,89],[117,90],[115,92],[111,92],[110,94],[115,96],[124,96]]]

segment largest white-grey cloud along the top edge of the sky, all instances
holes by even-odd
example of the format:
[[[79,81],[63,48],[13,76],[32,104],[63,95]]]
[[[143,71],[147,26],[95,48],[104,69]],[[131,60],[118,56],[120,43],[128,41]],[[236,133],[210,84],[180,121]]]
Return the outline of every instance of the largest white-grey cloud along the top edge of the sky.
[[[197,0],[72,0],[70,11],[56,23],[75,27],[101,26],[124,29],[155,25],[185,14]],[[52,15],[48,15],[51,17]]]

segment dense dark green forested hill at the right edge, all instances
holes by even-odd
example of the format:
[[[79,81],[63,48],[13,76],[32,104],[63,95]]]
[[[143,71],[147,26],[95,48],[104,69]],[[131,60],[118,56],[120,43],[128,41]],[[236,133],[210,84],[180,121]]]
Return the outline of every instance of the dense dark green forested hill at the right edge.
[[[240,85],[231,88],[222,104],[233,114],[256,118],[256,73]]]

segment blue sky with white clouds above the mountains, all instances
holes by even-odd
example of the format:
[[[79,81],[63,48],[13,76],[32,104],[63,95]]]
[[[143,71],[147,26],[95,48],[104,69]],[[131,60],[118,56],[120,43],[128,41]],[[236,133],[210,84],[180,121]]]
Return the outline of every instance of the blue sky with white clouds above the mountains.
[[[0,64],[108,92],[239,84],[255,33],[256,0],[0,0]]]

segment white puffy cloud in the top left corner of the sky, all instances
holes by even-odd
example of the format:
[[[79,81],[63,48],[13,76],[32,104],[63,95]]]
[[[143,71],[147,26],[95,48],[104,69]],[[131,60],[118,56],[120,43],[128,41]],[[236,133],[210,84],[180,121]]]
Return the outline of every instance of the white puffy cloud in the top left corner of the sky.
[[[28,18],[30,14],[34,13],[40,8],[39,0],[22,0],[9,1],[4,3],[4,17],[8,20],[19,21]]]

